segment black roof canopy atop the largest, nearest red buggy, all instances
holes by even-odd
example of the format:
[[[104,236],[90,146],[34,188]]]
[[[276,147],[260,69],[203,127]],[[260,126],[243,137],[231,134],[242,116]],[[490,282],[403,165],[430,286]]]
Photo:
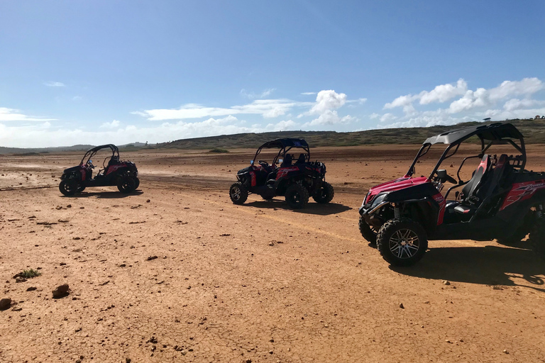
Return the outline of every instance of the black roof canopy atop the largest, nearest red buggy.
[[[492,123],[490,125],[477,125],[468,128],[459,128],[458,130],[441,133],[424,141],[426,144],[459,144],[473,135],[477,135],[481,140],[499,141],[504,139],[522,139],[522,133],[511,123]]]

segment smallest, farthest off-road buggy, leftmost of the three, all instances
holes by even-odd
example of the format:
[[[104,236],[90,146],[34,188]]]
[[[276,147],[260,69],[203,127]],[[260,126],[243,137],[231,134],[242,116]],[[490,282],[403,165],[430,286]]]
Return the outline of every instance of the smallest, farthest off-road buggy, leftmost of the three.
[[[102,162],[102,169],[92,176],[94,164],[91,160],[99,150],[111,150]],[[93,147],[85,152],[82,162],[76,167],[65,169],[60,177],[59,190],[65,196],[83,191],[88,186],[117,186],[122,193],[131,193],[140,185],[138,169],[133,162],[119,160],[119,149],[116,145],[107,144]]]

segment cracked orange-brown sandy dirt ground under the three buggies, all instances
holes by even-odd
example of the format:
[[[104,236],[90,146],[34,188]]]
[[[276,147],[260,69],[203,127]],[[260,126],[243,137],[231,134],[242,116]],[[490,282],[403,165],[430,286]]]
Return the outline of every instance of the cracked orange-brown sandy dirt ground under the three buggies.
[[[545,263],[524,243],[432,241],[401,269],[360,236],[368,188],[416,152],[313,150],[335,197],[302,211],[231,203],[253,150],[122,152],[138,191],[74,197],[57,185],[82,153],[0,156],[0,362],[545,362]]]

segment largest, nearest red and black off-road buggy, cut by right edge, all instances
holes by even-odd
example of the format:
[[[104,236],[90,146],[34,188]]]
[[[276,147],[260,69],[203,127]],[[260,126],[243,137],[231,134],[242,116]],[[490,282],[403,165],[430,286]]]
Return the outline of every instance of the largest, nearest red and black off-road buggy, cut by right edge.
[[[439,167],[471,137],[480,140],[480,152],[461,161],[456,180]],[[420,158],[439,143],[448,146],[429,177],[414,177]],[[490,155],[492,145],[512,146],[517,155]],[[460,171],[470,158],[478,158],[480,164],[473,177],[462,181]],[[525,170],[526,161],[524,138],[510,123],[477,125],[428,138],[404,177],[370,189],[359,210],[360,232],[397,266],[419,261],[428,240],[512,243],[528,233],[536,252],[545,256],[545,173]],[[455,185],[443,196],[446,181]],[[456,199],[448,200],[451,191],[460,187]]]

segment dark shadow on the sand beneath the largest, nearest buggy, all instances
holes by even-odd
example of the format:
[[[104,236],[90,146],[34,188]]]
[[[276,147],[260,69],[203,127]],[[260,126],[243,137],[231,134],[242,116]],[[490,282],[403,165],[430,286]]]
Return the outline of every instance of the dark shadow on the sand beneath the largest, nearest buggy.
[[[432,248],[416,265],[390,269],[400,274],[425,279],[525,286],[545,292],[543,280],[545,262],[536,257],[532,250],[519,248],[497,246]]]

